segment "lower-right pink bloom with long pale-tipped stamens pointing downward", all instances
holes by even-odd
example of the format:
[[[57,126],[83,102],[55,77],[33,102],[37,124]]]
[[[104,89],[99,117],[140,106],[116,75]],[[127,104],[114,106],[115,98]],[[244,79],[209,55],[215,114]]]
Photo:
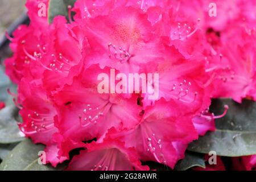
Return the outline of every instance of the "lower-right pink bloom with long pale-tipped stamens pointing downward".
[[[159,100],[154,107],[143,110],[142,118],[134,129],[111,129],[110,136],[124,141],[126,147],[135,147],[141,160],[173,168],[177,160],[184,157],[179,149],[183,149],[181,154],[184,154],[185,147],[178,147],[177,142],[186,145],[198,137],[191,118],[180,115],[180,110],[174,106],[174,102]]]

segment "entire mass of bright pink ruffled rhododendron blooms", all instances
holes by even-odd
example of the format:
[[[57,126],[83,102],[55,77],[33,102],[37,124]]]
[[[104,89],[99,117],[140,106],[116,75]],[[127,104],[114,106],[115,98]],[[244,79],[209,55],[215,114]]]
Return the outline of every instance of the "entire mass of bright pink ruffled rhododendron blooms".
[[[53,166],[82,148],[69,170],[174,168],[188,143],[214,131],[221,116],[209,112],[210,98],[256,100],[254,1],[216,1],[211,17],[208,0],[77,0],[68,20],[52,23],[38,16],[42,2],[48,8],[27,1],[31,23],[9,37],[5,64],[18,84],[19,128],[46,145]],[[158,73],[159,97],[98,93],[110,69]]]

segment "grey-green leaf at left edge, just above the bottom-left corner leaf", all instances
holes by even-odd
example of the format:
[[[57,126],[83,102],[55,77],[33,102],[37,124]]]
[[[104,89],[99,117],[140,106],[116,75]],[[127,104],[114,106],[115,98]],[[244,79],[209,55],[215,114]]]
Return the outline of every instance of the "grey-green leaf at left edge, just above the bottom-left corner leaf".
[[[0,143],[15,143],[24,139],[15,120],[17,114],[15,106],[6,106],[0,110]]]

